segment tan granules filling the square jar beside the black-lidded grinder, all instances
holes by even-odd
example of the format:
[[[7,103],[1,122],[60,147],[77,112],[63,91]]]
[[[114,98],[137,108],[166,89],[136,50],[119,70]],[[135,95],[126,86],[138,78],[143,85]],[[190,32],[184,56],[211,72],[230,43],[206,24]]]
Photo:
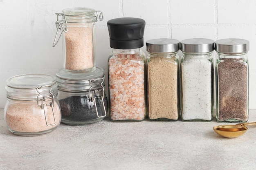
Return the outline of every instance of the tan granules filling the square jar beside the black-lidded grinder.
[[[148,62],[148,117],[177,120],[178,66],[175,57],[150,57]]]

